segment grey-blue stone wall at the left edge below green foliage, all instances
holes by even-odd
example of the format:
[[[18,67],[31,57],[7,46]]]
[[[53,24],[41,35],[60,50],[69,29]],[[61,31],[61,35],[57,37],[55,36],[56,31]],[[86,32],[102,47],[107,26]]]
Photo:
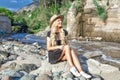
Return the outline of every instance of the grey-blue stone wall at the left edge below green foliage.
[[[11,33],[11,21],[7,16],[0,15],[0,34]]]

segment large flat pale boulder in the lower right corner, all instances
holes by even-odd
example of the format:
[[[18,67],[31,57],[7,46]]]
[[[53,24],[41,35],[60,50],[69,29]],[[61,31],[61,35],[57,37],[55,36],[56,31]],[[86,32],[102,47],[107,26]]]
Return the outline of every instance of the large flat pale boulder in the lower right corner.
[[[105,80],[119,80],[120,79],[120,71],[119,68],[102,64],[93,59],[89,59],[87,61],[89,72],[92,74],[100,75]]]

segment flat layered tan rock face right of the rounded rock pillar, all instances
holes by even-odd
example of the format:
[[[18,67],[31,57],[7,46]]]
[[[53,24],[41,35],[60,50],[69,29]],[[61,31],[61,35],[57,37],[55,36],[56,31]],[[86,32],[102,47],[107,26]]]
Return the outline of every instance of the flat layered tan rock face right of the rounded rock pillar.
[[[107,0],[106,0],[107,1]],[[120,4],[119,0],[110,0],[108,18],[102,22],[95,11],[93,0],[87,0],[84,7],[84,33],[89,37],[102,37],[107,41],[120,41]],[[106,2],[100,0],[99,4],[107,8]]]

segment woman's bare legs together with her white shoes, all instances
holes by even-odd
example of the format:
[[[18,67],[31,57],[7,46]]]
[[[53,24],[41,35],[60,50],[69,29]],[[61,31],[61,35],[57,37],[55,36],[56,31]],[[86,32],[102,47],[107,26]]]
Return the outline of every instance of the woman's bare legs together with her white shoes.
[[[67,51],[69,50],[69,51]],[[68,53],[69,52],[69,53]],[[82,71],[82,68],[81,68],[81,65],[80,65],[80,62],[79,62],[79,59],[77,57],[77,55],[75,54],[75,52],[73,51],[73,49],[70,49],[70,47],[67,45],[65,46],[64,50],[63,50],[63,53],[60,57],[60,60],[67,60],[71,66],[71,69],[70,71],[76,76],[84,76],[85,78],[91,78],[90,75],[88,75],[87,73],[85,73],[84,71]],[[77,70],[76,70],[76,68]],[[78,73],[79,72],[79,73]]]

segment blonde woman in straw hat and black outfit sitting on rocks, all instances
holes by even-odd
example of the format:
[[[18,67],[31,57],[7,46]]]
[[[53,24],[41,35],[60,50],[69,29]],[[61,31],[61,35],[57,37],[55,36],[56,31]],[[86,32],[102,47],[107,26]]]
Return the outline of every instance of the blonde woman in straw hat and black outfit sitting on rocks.
[[[68,32],[62,28],[63,15],[53,15],[50,19],[50,31],[47,33],[47,50],[49,62],[55,64],[67,60],[70,65],[70,72],[76,76],[91,78],[85,73],[80,65],[79,59],[73,49],[70,48],[67,35]]]

